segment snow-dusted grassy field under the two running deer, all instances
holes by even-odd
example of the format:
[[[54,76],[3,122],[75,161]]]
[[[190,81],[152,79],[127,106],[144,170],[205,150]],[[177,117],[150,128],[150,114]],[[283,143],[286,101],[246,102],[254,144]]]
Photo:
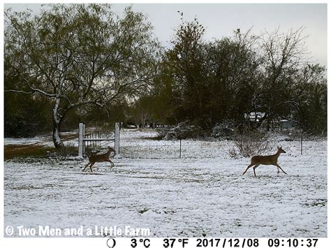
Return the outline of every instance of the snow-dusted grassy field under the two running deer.
[[[87,160],[4,163],[4,226],[149,228],[152,237],[326,237],[327,141],[274,140],[279,165],[243,171],[228,141],[151,140],[121,133],[121,158],[81,170]],[[26,140],[27,141],[27,140]],[[28,142],[28,141],[27,141]],[[20,140],[5,140],[5,145]],[[4,234],[7,236],[6,234]],[[94,233],[97,235],[97,233]],[[13,236],[18,237],[17,231]]]

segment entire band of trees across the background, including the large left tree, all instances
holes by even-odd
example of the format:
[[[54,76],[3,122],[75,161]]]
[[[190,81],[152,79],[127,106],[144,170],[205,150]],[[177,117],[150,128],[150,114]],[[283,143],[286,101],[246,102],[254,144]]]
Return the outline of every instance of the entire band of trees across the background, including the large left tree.
[[[182,13],[181,13],[182,15]],[[5,136],[53,133],[78,122],[190,122],[204,133],[222,122],[272,129],[288,119],[326,134],[325,68],[311,64],[303,28],[205,41],[197,19],[161,48],[142,13],[107,4],[53,4],[38,15],[5,11]]]

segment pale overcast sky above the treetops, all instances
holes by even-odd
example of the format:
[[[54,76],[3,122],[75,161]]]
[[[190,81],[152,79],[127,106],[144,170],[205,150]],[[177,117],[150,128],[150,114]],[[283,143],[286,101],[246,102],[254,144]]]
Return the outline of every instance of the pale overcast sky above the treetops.
[[[130,3],[115,3],[113,10],[121,14]],[[40,4],[10,3],[4,8],[21,11],[30,8],[38,13]],[[253,27],[254,34],[305,27],[307,48],[312,61],[327,66],[327,4],[326,3],[133,3],[133,10],[145,13],[154,26],[154,33],[163,46],[168,46],[184,13],[184,20],[194,17],[206,28],[205,40],[233,36]]]

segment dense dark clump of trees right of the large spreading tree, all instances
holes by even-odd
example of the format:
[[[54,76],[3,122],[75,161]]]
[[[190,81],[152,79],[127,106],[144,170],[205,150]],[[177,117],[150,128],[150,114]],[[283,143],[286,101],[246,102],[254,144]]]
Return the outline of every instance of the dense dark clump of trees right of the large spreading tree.
[[[203,41],[204,31],[198,20],[182,22],[165,51],[147,96],[161,103],[159,118],[211,130],[225,120],[247,123],[259,112],[256,127],[270,130],[286,119],[307,133],[326,132],[326,71],[305,59],[303,28],[260,36],[237,29],[212,42]]]

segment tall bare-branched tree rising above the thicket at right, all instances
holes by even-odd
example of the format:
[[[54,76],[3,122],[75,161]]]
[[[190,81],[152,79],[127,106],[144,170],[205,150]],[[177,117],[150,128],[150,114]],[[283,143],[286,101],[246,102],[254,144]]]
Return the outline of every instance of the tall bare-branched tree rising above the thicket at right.
[[[263,82],[253,99],[253,108],[265,112],[260,123],[268,124],[275,117],[290,115],[290,105],[295,78],[307,64],[307,48],[304,44],[303,27],[283,34],[276,29],[260,36],[260,53],[263,57]],[[268,125],[269,128],[269,125]]]

